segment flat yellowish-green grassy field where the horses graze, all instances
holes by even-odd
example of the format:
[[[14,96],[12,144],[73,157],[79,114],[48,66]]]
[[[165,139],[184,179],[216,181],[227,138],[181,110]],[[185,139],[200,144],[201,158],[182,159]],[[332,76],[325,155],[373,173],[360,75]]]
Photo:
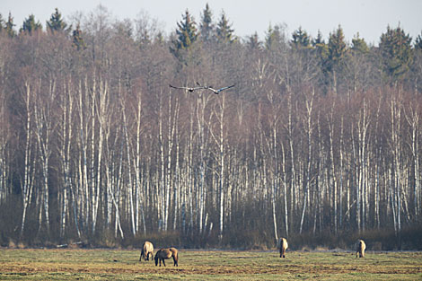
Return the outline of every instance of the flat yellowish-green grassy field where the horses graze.
[[[179,267],[140,250],[0,250],[0,280],[422,280],[422,252],[180,250]]]

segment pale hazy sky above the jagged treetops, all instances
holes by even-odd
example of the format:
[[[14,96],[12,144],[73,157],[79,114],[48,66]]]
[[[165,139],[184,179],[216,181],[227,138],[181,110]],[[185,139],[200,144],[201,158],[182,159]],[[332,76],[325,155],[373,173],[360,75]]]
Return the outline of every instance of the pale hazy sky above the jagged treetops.
[[[413,39],[422,34],[422,0],[0,0],[0,13],[5,19],[12,13],[18,30],[30,14],[45,27],[55,8],[66,20],[76,13],[88,15],[101,4],[117,20],[135,20],[147,13],[170,34],[186,9],[200,22],[207,3],[214,21],[224,12],[235,35],[243,39],[258,32],[263,40],[270,24],[286,24],[289,38],[302,27],[312,37],[321,31],[326,40],[340,25],[348,42],[359,33],[374,45],[387,26],[400,26]]]

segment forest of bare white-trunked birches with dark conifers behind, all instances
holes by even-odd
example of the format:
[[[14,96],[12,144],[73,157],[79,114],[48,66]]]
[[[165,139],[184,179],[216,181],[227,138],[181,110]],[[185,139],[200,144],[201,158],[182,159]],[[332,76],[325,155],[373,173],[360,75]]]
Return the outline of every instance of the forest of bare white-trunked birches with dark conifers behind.
[[[197,83],[235,86],[169,87]],[[170,34],[101,5],[44,28],[9,13],[0,115],[1,246],[422,244],[422,31],[240,38],[208,4]]]

